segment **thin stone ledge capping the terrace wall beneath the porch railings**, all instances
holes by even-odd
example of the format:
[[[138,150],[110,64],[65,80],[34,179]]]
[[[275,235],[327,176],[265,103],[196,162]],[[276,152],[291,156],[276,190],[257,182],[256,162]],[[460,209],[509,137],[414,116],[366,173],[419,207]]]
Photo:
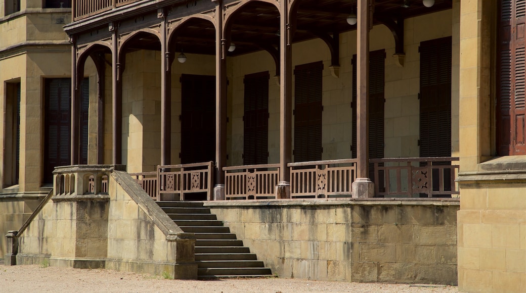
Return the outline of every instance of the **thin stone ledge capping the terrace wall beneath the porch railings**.
[[[207,207],[318,205],[460,205],[460,198],[349,198],[348,200],[282,199],[204,202],[204,206]]]

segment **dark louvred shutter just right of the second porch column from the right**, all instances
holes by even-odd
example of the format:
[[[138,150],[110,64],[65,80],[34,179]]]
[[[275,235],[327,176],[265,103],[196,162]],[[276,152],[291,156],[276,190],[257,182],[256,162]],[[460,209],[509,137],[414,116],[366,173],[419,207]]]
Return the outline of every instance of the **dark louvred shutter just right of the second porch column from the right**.
[[[296,66],[294,161],[321,160],[321,61]]]

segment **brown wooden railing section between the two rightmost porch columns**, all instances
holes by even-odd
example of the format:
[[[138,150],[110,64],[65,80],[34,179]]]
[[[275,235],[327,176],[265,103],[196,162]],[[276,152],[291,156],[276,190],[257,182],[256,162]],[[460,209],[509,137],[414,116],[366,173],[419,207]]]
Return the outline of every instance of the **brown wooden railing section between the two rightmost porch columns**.
[[[356,162],[356,159],[343,159],[289,163],[291,197],[351,197]]]

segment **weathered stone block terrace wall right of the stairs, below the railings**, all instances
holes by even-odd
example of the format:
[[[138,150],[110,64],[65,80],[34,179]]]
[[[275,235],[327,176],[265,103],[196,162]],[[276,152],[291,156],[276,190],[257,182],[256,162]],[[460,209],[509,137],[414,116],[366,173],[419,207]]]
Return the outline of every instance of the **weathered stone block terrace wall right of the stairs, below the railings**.
[[[457,284],[458,200],[205,206],[280,277]]]

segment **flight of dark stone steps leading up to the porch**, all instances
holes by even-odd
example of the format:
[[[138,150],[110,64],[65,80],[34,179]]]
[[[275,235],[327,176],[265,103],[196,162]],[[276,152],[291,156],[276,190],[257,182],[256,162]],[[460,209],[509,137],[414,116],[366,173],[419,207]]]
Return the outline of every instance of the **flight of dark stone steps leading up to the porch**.
[[[268,277],[269,268],[243,246],[230,228],[218,221],[203,202],[157,202],[183,229],[196,236],[195,259],[199,279],[232,277]]]

